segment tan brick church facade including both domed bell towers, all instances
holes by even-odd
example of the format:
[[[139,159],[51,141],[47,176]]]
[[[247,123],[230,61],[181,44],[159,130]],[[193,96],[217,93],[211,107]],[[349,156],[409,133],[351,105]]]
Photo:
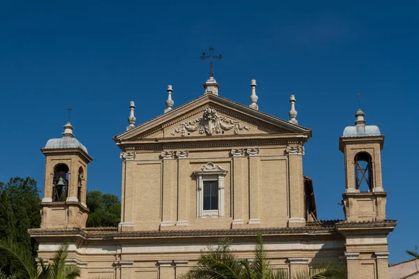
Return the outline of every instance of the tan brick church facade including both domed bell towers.
[[[168,86],[168,108],[138,126],[131,102],[129,126],[113,137],[122,151],[118,227],[85,227],[92,158],[73,126],[47,142],[41,228],[29,231],[39,257],[49,261],[69,241],[68,261],[81,278],[174,279],[222,237],[251,260],[260,232],[270,264],[289,275],[335,260],[350,279],[387,279],[387,235],[397,222],[385,218],[378,127],[359,110],[355,126],[345,128],[345,220],[322,221],[302,171],[311,130],[298,125],[294,96],[286,121],[258,110],[255,80],[251,105],[219,96],[214,77],[204,87],[203,96],[173,108]]]

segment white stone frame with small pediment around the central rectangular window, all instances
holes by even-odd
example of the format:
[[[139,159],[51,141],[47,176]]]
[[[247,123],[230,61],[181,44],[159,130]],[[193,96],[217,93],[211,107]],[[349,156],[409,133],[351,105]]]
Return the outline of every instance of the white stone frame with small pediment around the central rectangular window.
[[[227,170],[214,163],[207,163],[193,174],[196,175],[196,217],[224,217],[224,179]],[[204,210],[204,181],[218,181],[218,209]]]

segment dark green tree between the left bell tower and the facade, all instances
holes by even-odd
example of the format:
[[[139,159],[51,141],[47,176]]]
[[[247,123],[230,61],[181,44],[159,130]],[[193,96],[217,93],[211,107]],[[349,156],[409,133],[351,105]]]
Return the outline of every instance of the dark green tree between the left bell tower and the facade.
[[[121,222],[121,202],[117,196],[89,191],[86,204],[90,210],[87,227],[117,227]]]

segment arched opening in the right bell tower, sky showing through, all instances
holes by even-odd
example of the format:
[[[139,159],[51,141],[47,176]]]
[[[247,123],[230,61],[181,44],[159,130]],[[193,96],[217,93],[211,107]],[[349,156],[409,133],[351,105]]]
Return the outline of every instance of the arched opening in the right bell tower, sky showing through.
[[[372,158],[367,152],[360,152],[355,156],[355,186],[357,190],[367,186],[369,192],[374,188],[372,185]]]

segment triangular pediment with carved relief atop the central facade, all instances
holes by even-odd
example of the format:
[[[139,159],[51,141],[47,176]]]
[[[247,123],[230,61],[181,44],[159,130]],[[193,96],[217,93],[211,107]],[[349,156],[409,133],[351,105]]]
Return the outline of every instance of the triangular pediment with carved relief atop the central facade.
[[[311,130],[213,94],[200,96],[116,135],[117,142],[234,135],[300,134]]]

